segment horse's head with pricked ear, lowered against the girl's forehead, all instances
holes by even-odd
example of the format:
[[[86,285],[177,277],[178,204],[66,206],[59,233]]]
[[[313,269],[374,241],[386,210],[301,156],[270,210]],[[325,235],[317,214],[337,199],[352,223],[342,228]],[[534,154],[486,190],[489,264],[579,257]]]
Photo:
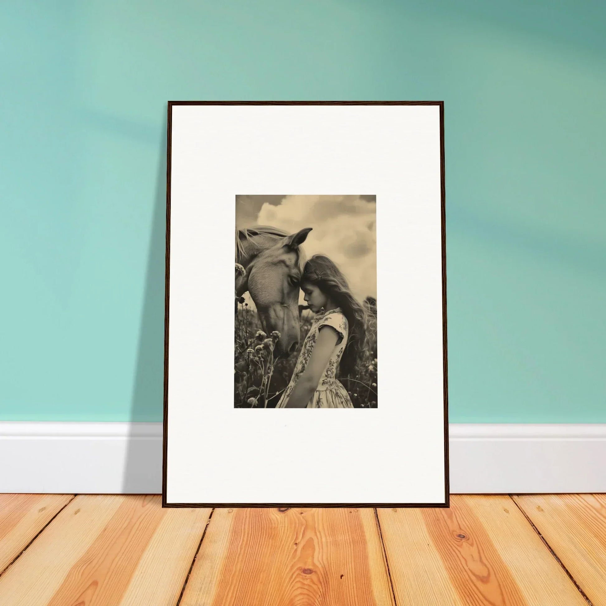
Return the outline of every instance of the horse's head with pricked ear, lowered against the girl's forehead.
[[[305,264],[299,249],[311,227],[276,239],[248,266],[248,293],[255,302],[263,329],[278,330],[276,355],[288,356],[299,345],[299,281]]]

